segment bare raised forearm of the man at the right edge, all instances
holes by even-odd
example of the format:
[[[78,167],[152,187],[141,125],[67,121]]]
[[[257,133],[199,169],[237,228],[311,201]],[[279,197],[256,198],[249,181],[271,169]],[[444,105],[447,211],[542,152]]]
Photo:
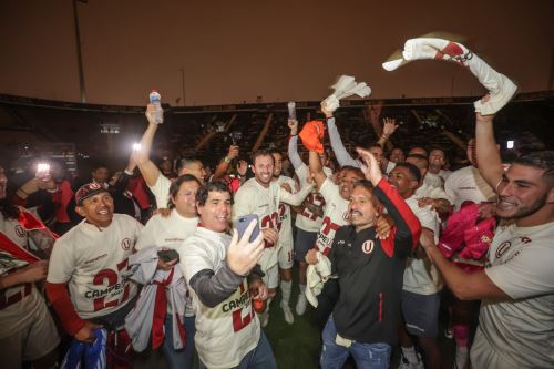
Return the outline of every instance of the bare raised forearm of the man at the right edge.
[[[486,183],[496,191],[502,180],[502,160],[494,141],[493,122],[494,115],[481,115],[475,113],[475,150],[478,156],[479,173]]]

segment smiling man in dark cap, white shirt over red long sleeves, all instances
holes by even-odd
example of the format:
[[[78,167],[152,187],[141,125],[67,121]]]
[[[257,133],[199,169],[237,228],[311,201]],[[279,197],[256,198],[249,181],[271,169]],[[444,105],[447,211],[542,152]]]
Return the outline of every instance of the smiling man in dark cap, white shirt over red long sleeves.
[[[47,293],[65,331],[92,342],[94,328],[121,331],[136,286],[124,277],[142,225],[113,213],[113,198],[98,183],[75,193],[84,219],[59,238],[52,250]]]

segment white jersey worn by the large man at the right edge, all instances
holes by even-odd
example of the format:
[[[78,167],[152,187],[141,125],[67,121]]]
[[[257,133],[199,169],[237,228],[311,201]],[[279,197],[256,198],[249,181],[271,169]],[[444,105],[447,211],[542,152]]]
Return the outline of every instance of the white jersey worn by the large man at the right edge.
[[[499,227],[485,274],[512,300],[483,299],[474,368],[554,367],[554,223]]]

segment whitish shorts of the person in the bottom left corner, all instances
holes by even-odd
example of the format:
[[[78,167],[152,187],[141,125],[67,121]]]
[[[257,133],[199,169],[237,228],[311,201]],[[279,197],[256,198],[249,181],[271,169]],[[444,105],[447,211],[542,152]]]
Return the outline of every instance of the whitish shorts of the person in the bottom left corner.
[[[29,325],[13,335],[0,338],[2,368],[21,368],[21,361],[33,361],[50,353],[59,344],[60,336],[54,320],[40,297],[40,307]]]

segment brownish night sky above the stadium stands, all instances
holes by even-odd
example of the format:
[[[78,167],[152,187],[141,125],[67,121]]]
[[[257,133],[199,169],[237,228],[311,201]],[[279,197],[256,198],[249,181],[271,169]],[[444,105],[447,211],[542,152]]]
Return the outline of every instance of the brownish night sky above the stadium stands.
[[[376,99],[483,93],[450,63],[382,70],[407,39],[439,30],[465,35],[520,91],[554,89],[552,0],[89,0],[78,8],[90,103],[143,105],[153,88],[172,105],[320,100],[339,74],[366,81]],[[80,101],[71,0],[0,0],[0,93]]]

